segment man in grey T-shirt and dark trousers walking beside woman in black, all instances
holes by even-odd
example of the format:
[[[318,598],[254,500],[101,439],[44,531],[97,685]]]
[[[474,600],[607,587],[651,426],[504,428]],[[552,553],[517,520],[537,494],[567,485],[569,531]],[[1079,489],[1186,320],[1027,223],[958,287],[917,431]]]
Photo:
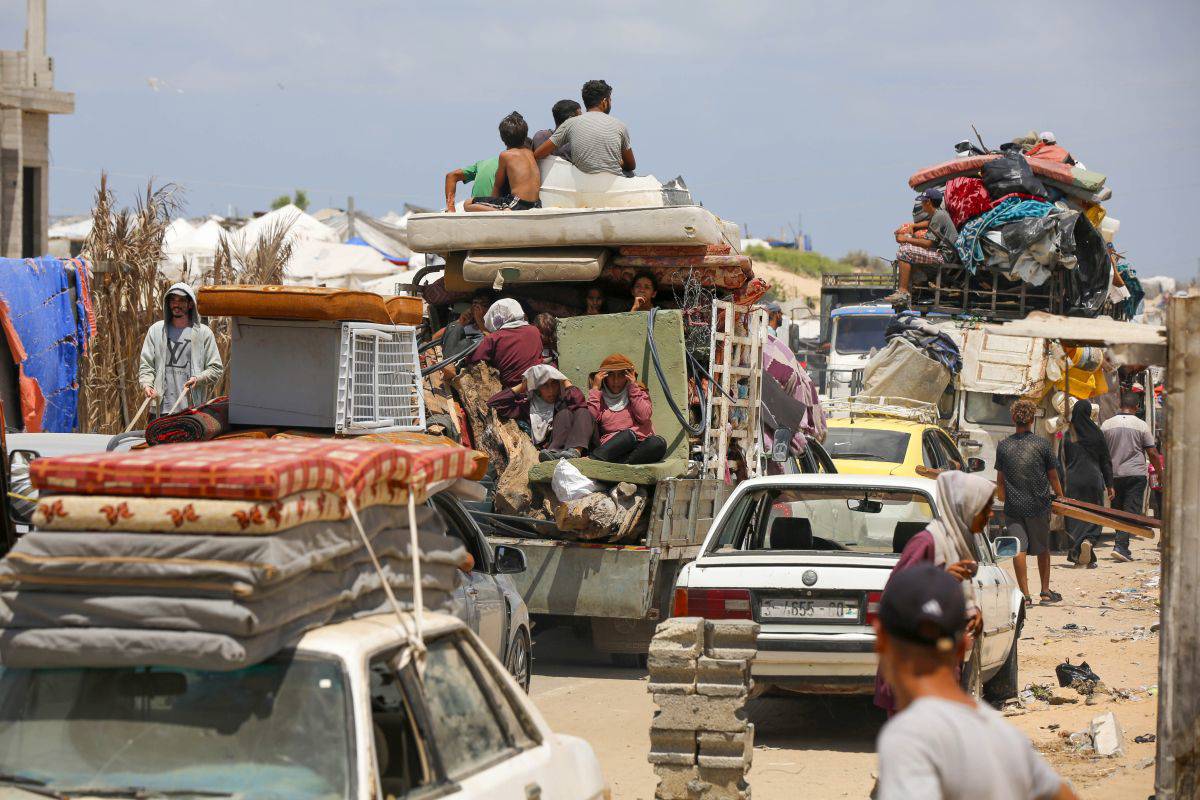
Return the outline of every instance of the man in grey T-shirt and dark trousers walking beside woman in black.
[[[1154,398],[1148,397],[1147,403]],[[1130,513],[1141,513],[1146,501],[1147,457],[1150,469],[1163,480],[1163,462],[1146,421],[1138,416],[1138,395],[1121,392],[1121,413],[1109,417],[1100,426],[1104,440],[1112,457],[1112,507]],[[1112,546],[1112,558],[1118,561],[1132,561],[1129,552],[1129,534],[1117,531],[1116,545]]]

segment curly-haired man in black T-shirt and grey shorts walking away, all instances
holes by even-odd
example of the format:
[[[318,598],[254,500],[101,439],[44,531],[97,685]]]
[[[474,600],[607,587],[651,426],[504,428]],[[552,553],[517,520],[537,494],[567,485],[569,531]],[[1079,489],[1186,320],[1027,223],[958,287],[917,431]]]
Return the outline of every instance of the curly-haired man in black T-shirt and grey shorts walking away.
[[[996,497],[1004,503],[1009,535],[1021,541],[1021,552],[1013,559],[1013,571],[1026,606],[1033,604],[1026,553],[1038,559],[1042,604],[1062,600],[1062,595],[1050,589],[1050,504],[1062,497],[1062,482],[1050,443],[1033,433],[1037,410],[1024,398],[1013,403],[1016,433],[996,447]]]

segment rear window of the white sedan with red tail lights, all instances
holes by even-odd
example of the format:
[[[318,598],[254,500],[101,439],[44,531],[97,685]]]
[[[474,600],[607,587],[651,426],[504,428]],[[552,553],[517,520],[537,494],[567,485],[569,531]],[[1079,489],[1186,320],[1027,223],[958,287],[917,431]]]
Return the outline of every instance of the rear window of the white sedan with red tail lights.
[[[899,553],[932,517],[929,495],[912,489],[762,487],[737,500],[708,552]]]

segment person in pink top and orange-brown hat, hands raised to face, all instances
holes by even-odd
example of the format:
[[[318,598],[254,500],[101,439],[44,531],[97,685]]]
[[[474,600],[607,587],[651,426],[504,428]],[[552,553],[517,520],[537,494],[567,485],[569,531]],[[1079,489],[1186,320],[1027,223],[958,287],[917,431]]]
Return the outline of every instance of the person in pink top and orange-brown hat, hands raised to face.
[[[667,441],[654,433],[650,396],[637,383],[634,362],[613,353],[600,362],[588,392],[588,410],[596,421],[600,446],[596,461],[614,464],[653,464],[662,461]]]

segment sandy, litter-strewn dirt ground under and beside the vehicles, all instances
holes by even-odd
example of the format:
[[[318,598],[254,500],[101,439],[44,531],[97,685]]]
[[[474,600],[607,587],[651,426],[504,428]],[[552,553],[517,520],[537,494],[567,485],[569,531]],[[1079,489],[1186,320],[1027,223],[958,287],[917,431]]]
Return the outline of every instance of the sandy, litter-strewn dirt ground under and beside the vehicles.
[[[1150,630],[1158,622],[1156,545],[1134,541],[1136,560],[1128,564],[1112,561],[1103,545],[1096,570],[1070,569],[1055,555],[1051,587],[1063,602],[1030,608],[1021,633],[1021,686],[1045,685],[1067,702],[1051,705],[1026,694],[1024,708],[1007,710],[1009,721],[1082,798],[1153,794],[1154,745],[1133,739],[1156,730],[1158,633]],[[1087,705],[1074,690],[1060,688],[1055,666],[1064,658],[1086,661],[1115,693],[1102,690]],[[654,796],[654,772],[646,760],[654,706],[644,670],[611,667],[584,640],[551,630],[534,644],[532,696],[554,730],[592,742],[613,798]],[[1075,752],[1067,736],[1105,711],[1115,712],[1123,728],[1124,756]],[[882,718],[869,698],[767,697],[752,700],[749,714],[755,724],[749,781],[756,798],[792,798],[797,787],[812,798],[865,798],[870,792]]]

